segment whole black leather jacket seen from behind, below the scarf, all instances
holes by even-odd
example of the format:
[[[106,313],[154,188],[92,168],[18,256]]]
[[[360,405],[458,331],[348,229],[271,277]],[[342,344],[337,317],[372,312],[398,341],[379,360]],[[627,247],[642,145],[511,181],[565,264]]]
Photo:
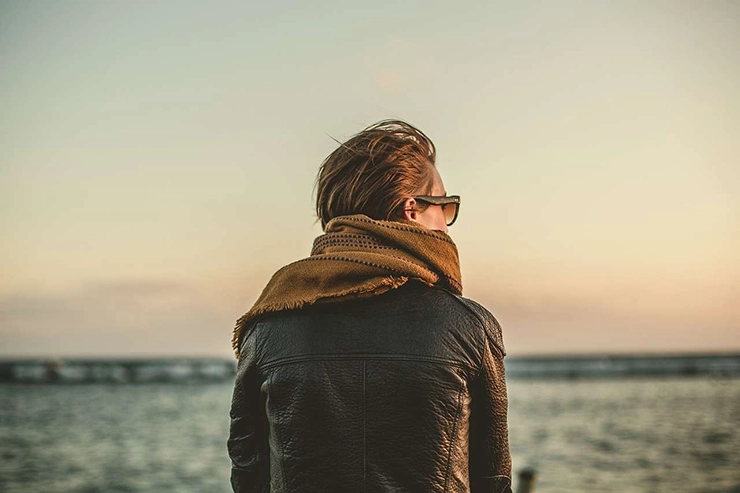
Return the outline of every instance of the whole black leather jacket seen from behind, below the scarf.
[[[245,331],[231,483],[246,492],[511,492],[501,327],[409,281]]]

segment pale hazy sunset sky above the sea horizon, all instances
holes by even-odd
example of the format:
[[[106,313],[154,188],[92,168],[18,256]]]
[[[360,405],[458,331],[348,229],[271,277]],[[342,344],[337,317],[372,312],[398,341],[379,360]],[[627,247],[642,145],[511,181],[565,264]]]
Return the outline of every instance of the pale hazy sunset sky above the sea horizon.
[[[386,118],[510,356],[740,351],[740,3],[0,1],[0,357],[230,357]]]

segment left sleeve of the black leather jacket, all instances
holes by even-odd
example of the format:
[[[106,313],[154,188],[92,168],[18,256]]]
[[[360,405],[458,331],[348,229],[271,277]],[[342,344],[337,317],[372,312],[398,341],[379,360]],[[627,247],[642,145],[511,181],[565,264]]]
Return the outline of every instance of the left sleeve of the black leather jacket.
[[[235,493],[270,491],[268,424],[257,368],[255,331],[242,343],[231,401],[227,447],[231,458],[231,487]]]

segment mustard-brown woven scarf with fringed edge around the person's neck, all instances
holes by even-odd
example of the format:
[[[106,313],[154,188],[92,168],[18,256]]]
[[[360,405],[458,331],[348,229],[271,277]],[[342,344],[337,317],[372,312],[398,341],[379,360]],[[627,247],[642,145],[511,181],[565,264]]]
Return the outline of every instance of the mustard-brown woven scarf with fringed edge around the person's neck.
[[[260,315],[375,296],[409,279],[462,294],[457,247],[447,233],[408,220],[335,217],[314,240],[311,255],[275,272],[252,308],[236,321],[234,353],[238,359],[242,333]]]

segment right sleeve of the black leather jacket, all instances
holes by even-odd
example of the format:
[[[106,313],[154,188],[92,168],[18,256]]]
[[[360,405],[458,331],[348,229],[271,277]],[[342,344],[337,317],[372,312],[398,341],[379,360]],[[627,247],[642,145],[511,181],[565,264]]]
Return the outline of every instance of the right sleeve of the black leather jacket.
[[[490,312],[483,310],[483,358],[470,390],[470,491],[511,493],[506,353],[501,327]]]

